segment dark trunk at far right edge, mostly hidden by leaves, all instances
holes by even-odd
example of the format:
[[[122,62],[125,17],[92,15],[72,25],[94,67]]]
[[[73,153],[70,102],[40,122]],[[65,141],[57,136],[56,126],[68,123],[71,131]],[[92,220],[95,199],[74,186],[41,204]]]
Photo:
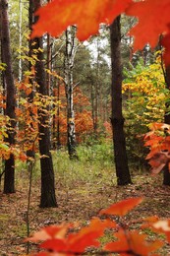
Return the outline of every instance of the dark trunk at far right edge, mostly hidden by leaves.
[[[165,69],[165,83],[166,88],[170,90],[170,66]],[[167,103],[167,107],[169,106],[169,102]],[[165,113],[164,122],[170,124],[170,113]],[[168,164],[163,169],[163,185],[170,186],[170,171],[168,168]]]

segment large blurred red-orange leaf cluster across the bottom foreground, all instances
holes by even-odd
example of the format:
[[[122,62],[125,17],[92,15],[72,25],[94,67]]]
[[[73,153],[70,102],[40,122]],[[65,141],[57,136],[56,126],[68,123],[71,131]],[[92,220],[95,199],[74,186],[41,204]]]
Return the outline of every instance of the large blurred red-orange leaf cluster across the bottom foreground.
[[[42,251],[31,255],[73,256],[83,255],[87,251],[95,252],[95,255],[110,253],[119,253],[122,256],[159,255],[153,252],[161,248],[165,242],[157,238],[154,241],[148,241],[144,228],[151,228],[155,233],[165,234],[167,242],[170,242],[170,220],[162,221],[157,217],[149,217],[135,221],[136,224],[141,224],[139,230],[130,228],[123,221],[124,216],[141,202],[142,198],[129,198],[113,204],[108,209],[101,210],[99,216],[91,219],[87,226],[60,224],[43,227],[27,239],[31,242],[41,241],[39,247]],[[113,232],[113,239],[103,245],[99,238],[104,236],[108,229]]]

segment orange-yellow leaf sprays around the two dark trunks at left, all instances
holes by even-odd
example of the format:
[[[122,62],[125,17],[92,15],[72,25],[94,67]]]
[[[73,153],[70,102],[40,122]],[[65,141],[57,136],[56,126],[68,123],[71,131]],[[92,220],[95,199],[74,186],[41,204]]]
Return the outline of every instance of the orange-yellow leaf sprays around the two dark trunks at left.
[[[26,161],[28,157],[26,152],[32,150],[34,140],[37,139],[38,134],[38,115],[37,105],[35,104],[36,98],[33,102],[28,102],[25,96],[31,93],[31,87],[28,83],[28,77],[21,83],[16,82],[17,96],[16,101],[18,106],[15,108],[17,127],[15,131],[10,127],[10,119],[7,116],[0,116],[0,157],[4,160],[8,160],[11,154],[14,155],[16,160]],[[6,97],[3,96],[3,92],[0,93],[0,106],[3,109],[6,108]],[[8,138],[7,127],[10,127],[11,132],[15,133],[15,145],[9,145],[6,141]],[[33,148],[35,150],[35,148]]]

